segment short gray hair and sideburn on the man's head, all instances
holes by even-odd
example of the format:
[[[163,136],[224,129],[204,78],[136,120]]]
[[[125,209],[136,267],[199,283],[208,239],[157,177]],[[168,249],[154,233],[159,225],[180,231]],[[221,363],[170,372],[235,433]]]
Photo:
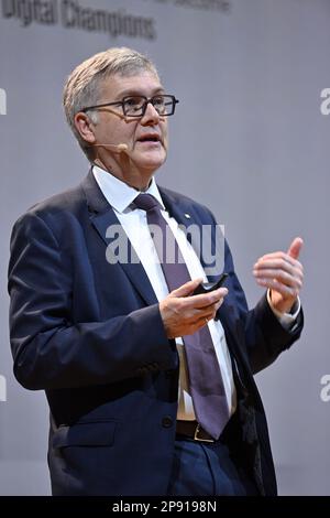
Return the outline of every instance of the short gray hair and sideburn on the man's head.
[[[100,86],[109,76],[114,74],[132,76],[145,71],[158,77],[155,65],[145,55],[128,47],[113,47],[84,61],[68,76],[63,91],[65,115],[88,160],[94,159],[94,150],[80,137],[75,126],[75,115],[86,106],[98,104]],[[97,112],[91,112],[90,119],[96,123]]]

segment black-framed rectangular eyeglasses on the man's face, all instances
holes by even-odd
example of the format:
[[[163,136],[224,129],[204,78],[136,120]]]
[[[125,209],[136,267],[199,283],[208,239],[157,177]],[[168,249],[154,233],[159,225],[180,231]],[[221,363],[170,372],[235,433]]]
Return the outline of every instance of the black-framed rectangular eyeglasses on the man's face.
[[[175,112],[175,106],[178,104],[178,99],[174,95],[158,94],[150,99],[142,95],[131,95],[123,97],[122,100],[116,102],[105,102],[102,105],[87,106],[80,111],[95,110],[97,108],[106,108],[107,106],[121,106],[123,115],[125,117],[143,117],[146,107],[151,102],[155,110],[162,117],[169,117]]]

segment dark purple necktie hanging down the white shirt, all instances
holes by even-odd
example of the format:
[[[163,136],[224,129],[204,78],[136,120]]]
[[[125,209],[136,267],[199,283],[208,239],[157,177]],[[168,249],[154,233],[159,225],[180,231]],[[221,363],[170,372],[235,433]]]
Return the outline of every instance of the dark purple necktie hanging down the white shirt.
[[[158,230],[154,235],[152,231],[152,237],[168,290],[176,290],[191,278],[174,234],[161,214],[162,206],[151,194],[139,194],[134,205],[146,212],[147,224]],[[169,244],[170,260],[166,253]],[[197,421],[213,439],[218,439],[229,420],[229,409],[208,325],[191,335],[183,336],[183,339]]]

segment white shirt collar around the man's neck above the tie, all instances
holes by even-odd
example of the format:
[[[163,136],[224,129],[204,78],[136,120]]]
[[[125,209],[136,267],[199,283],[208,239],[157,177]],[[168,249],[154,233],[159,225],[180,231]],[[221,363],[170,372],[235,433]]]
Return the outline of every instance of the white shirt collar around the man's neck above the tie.
[[[109,173],[108,171],[105,171],[103,169],[99,168],[98,165],[92,166],[92,174],[105,197],[114,208],[114,211],[117,211],[118,213],[124,213],[130,211],[129,207],[131,203],[135,199],[140,191],[134,187],[131,187],[130,185],[113,176],[113,174]],[[160,202],[163,209],[165,209],[161,193],[158,191],[154,177],[152,177],[147,190],[143,192],[152,194],[157,199],[157,202]]]

